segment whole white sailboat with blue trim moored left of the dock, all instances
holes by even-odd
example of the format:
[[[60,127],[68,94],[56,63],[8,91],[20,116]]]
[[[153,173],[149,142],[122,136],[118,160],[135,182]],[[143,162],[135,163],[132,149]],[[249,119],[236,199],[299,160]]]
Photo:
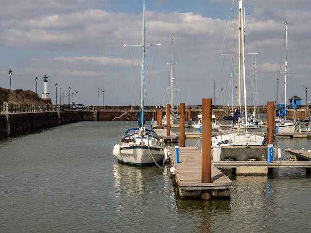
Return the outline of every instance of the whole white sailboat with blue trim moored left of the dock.
[[[145,82],[145,0],[143,1],[143,29],[141,51],[141,89],[140,113],[138,128],[128,129],[121,135],[121,141],[114,146],[113,155],[118,160],[138,166],[154,165],[162,162],[164,157],[164,140],[159,138],[155,131],[145,128],[144,118],[144,82]]]

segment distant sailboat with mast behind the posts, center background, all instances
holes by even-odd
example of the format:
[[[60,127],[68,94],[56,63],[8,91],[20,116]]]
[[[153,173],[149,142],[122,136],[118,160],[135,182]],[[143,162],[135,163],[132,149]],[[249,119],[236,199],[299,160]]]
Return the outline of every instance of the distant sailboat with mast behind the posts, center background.
[[[179,123],[179,118],[180,116],[176,113],[174,113],[174,90],[177,90],[176,88],[174,89],[174,50],[173,50],[173,33],[172,33],[172,54],[171,54],[171,62],[168,63],[171,65],[171,75],[170,75],[170,81],[171,81],[171,88],[167,89],[169,91],[171,91],[171,109],[170,109],[170,124],[173,125],[178,124]],[[162,125],[166,126],[166,121],[167,121],[167,117],[164,116],[162,119]]]

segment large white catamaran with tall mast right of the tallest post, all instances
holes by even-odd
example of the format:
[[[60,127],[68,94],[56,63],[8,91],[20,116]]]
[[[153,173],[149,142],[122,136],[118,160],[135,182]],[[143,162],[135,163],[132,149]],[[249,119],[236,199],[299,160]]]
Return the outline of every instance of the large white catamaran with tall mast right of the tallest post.
[[[244,37],[241,36],[243,31],[243,15],[242,15],[242,0],[239,0],[239,85],[238,85],[238,109],[236,111],[237,117],[240,115],[241,109],[241,60],[243,66],[243,94],[244,94],[244,111],[247,113],[246,106],[246,81],[245,81],[245,51],[244,51]],[[242,38],[242,45],[241,45]],[[242,54],[241,54],[242,47]],[[245,122],[247,121],[247,114]],[[212,136],[213,161],[224,161],[225,159],[247,160],[249,158],[256,160],[266,159],[266,155],[262,153],[265,147],[265,138],[259,135],[247,133],[247,124],[245,124],[245,132],[241,133],[241,118],[238,119],[238,133],[225,133]],[[263,150],[259,150],[261,147]],[[250,149],[250,150],[248,150]],[[245,151],[247,150],[247,151]]]

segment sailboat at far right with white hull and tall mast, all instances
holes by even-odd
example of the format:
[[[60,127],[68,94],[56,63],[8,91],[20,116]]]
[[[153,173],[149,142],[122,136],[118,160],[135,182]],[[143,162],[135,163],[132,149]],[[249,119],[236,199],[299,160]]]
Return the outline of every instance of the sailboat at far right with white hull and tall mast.
[[[295,125],[286,119],[286,82],[287,82],[287,21],[285,26],[285,85],[284,85],[284,109],[276,113],[276,133],[294,133]]]

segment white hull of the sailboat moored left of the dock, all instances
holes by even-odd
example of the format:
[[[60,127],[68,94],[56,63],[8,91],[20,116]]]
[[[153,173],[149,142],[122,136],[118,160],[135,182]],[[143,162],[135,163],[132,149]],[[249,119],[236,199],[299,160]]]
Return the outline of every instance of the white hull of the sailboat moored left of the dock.
[[[163,148],[133,146],[120,148],[117,158],[120,162],[138,166],[154,165],[161,163],[164,157]],[[154,159],[153,159],[154,158]],[[155,161],[154,161],[155,160]]]

